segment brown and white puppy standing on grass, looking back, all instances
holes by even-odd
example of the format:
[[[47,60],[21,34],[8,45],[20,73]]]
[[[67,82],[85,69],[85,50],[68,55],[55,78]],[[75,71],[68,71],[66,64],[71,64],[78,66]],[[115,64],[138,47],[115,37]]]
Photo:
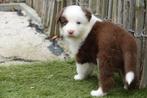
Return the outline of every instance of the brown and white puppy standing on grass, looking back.
[[[64,8],[57,20],[76,59],[75,80],[85,79],[95,65],[99,67],[99,88],[92,96],[104,96],[113,86],[113,74],[123,75],[125,88],[136,80],[137,45],[134,37],[121,27],[96,18],[90,11],[72,5]]]

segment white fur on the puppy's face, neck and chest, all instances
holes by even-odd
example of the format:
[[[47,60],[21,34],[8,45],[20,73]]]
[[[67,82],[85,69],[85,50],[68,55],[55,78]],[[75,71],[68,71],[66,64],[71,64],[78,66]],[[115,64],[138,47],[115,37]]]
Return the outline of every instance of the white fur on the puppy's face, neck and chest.
[[[66,17],[68,23],[60,28],[60,33],[65,37],[65,41],[68,43],[72,54],[71,56],[74,57],[95,22],[102,20],[92,15],[90,21],[88,21],[81,7],[76,5],[65,8],[62,16]],[[77,21],[80,21],[81,24],[76,24]],[[74,31],[73,37],[69,37],[68,31],[70,30]]]

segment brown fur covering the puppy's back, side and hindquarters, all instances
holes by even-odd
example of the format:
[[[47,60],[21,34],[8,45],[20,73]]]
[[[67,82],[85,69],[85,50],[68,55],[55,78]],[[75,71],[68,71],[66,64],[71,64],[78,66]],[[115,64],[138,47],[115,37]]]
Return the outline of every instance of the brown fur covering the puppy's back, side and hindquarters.
[[[136,76],[135,38],[111,22],[96,22],[81,45],[76,60],[81,64],[97,64],[99,60],[100,86],[104,92],[107,92],[113,86],[112,76],[115,71],[120,71],[123,78],[129,71],[133,71]]]

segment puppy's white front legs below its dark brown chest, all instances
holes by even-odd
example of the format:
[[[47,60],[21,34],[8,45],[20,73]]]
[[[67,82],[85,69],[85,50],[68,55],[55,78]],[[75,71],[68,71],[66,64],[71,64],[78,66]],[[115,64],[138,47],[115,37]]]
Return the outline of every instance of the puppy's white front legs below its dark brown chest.
[[[94,69],[93,64],[85,63],[85,64],[79,64],[76,63],[76,70],[77,70],[77,75],[74,76],[75,80],[83,80],[85,79],[88,75],[92,73]]]

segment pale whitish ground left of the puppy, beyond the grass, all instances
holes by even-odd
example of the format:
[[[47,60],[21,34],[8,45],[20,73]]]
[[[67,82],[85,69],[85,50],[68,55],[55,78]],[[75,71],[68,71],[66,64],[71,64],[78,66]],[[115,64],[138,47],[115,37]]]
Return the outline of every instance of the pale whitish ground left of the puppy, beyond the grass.
[[[1,57],[19,57],[31,60],[57,58],[49,50],[46,35],[28,27],[28,17],[16,12],[0,12],[0,61]]]

